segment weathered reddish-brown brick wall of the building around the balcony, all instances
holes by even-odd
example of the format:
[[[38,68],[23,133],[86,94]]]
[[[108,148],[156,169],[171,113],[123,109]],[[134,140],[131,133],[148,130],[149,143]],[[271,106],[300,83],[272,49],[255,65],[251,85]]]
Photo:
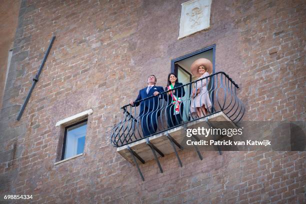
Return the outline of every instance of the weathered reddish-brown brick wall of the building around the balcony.
[[[0,194],[34,203],[305,203],[305,151],[181,151],[135,166],[110,145],[120,107],[173,58],[216,45],[243,120],[305,120],[302,0],[212,0],[210,28],[177,39],[183,0],[22,0],[0,113]],[[56,39],[20,121],[15,120]],[[84,154],[57,161],[63,118],[92,108]],[[24,201],[24,200],[23,200]],[[13,201],[15,202],[15,201]],[[16,201],[22,202],[22,200]]]

